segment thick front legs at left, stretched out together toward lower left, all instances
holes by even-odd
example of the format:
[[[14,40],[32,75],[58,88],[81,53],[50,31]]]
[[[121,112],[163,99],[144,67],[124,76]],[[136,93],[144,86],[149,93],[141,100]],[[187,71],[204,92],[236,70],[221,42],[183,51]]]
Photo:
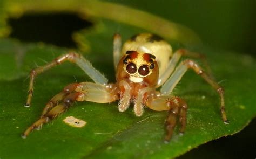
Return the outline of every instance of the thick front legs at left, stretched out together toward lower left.
[[[26,129],[22,137],[25,138],[33,129],[41,127],[44,123],[65,112],[75,101],[109,103],[119,99],[118,93],[116,85],[113,84],[107,86],[91,82],[70,84],[47,103],[41,118]]]

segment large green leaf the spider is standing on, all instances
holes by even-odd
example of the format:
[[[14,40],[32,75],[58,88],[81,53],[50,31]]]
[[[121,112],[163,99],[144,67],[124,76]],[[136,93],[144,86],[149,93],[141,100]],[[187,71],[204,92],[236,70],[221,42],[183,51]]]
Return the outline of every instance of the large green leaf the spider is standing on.
[[[111,20],[98,23],[96,30],[78,32],[75,39],[81,48],[90,47],[86,56],[82,52],[84,56],[114,82],[113,33],[117,27],[121,28],[125,40],[146,30]],[[174,44],[174,49],[178,46]],[[39,75],[32,106],[23,107],[29,70],[67,51],[50,45],[0,39],[0,158],[173,158],[207,141],[239,132],[256,116],[255,59],[201,46],[193,51],[206,54],[215,78],[225,88],[229,125],[221,120],[218,94],[198,75],[188,71],[174,90],[189,106],[186,132],[180,136],[176,129],[169,144],[163,142],[166,112],[146,109],[142,117],[136,117],[131,108],[118,112],[117,102],[77,102],[42,130],[34,130],[27,139],[22,139],[23,131],[38,119],[53,95],[72,82],[91,81],[76,65],[57,66]],[[87,124],[82,128],[70,127],[63,122],[66,116],[82,119]]]

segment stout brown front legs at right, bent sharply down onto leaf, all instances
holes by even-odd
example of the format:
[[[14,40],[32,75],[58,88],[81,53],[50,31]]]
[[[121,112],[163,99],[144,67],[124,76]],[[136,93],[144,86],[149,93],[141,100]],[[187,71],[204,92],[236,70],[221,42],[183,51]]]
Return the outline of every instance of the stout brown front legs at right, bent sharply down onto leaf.
[[[177,117],[179,116],[179,122],[180,122],[180,133],[184,133],[186,128],[186,112],[187,112],[187,103],[176,97],[176,96],[159,96],[157,98],[149,99],[146,102],[147,107],[162,111],[162,110],[168,110],[168,116],[166,118],[166,136],[165,141],[169,142],[172,134],[173,129],[176,126],[177,123]]]

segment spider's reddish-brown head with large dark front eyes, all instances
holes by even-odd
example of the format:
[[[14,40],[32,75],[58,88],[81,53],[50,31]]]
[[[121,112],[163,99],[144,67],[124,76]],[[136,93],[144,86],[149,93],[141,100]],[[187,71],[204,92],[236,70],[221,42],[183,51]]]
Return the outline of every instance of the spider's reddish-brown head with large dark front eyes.
[[[156,57],[149,53],[126,51],[118,64],[118,80],[128,77],[131,82],[145,81],[150,85],[156,85],[158,75]]]

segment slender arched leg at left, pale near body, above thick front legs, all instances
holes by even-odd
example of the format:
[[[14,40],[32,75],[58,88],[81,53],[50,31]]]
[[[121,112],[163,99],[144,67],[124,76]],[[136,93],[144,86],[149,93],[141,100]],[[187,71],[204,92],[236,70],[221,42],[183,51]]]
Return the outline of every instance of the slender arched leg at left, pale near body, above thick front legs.
[[[29,91],[28,91],[29,94],[28,94],[28,99],[26,101],[26,104],[24,105],[25,107],[30,106],[31,98],[33,95],[33,84],[36,76],[46,70],[49,70],[52,67],[55,67],[57,65],[64,63],[64,61],[67,61],[67,60],[70,61],[71,63],[76,63],[96,83],[107,84],[107,79],[104,77],[104,75],[100,73],[98,70],[96,70],[89,61],[87,61],[82,55],[71,52],[71,53],[59,56],[55,60],[51,61],[51,63],[49,64],[46,64],[44,66],[37,67],[36,69],[31,70],[30,84],[29,84]]]

